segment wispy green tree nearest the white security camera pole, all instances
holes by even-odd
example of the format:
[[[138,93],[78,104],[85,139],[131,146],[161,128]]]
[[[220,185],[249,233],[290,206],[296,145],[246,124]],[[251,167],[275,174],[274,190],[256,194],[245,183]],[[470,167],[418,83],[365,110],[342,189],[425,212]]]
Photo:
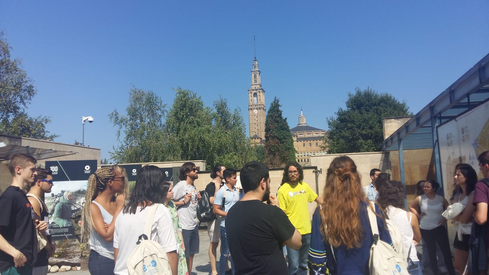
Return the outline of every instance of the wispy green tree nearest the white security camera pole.
[[[111,159],[117,163],[166,161],[165,108],[166,104],[157,94],[133,85],[126,114],[117,110],[109,114],[109,120],[118,127],[116,137],[119,142],[117,147],[112,147]]]

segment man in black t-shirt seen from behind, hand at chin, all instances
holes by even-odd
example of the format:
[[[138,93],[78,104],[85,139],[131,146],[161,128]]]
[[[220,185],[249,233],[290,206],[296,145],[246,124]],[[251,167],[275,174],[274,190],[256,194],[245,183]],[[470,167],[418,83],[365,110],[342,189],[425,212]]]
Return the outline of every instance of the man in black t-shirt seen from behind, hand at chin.
[[[299,249],[301,234],[278,207],[277,198],[270,195],[267,166],[257,161],[246,163],[240,180],[244,196],[229,209],[225,224],[235,273],[288,274],[282,247]]]

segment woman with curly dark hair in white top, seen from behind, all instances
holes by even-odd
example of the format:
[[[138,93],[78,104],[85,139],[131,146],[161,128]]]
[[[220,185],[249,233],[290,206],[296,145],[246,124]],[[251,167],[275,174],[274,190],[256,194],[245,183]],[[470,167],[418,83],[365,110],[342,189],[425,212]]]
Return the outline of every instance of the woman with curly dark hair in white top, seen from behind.
[[[384,213],[398,227],[404,244],[404,254],[413,264],[418,265],[415,271],[408,270],[411,275],[422,275],[421,266],[416,254],[416,245],[421,241],[418,218],[411,212],[404,210],[404,189],[401,182],[381,181],[376,184],[378,196],[377,203]],[[396,248],[398,249],[398,248]],[[410,262],[408,262],[410,264]]]

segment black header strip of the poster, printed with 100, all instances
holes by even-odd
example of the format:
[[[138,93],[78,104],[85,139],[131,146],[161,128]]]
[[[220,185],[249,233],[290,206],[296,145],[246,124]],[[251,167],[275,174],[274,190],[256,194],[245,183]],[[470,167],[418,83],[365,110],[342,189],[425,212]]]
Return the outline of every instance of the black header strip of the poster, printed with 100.
[[[84,181],[97,170],[97,160],[46,161],[45,167],[53,173],[53,182]]]

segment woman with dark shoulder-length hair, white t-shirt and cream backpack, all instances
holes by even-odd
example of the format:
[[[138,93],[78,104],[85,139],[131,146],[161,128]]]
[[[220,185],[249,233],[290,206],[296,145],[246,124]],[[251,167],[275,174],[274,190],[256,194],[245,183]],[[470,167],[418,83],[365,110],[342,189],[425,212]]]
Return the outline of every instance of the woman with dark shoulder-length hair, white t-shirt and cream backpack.
[[[163,194],[162,184],[164,180],[165,175],[154,165],[146,165],[139,170],[129,203],[115,221],[114,274],[128,275],[127,260],[136,247],[138,237],[144,232],[150,208],[147,206],[163,204],[165,201],[166,194]],[[176,275],[178,256],[175,229],[168,209],[164,205],[157,207],[150,239],[161,245],[168,256],[172,273]]]

